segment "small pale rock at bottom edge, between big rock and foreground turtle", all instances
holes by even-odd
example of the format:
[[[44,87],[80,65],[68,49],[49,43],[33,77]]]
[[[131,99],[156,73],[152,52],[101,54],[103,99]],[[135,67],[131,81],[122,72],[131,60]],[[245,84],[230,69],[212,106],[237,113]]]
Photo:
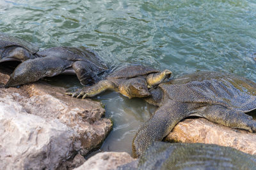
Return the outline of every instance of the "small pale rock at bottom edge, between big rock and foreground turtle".
[[[93,157],[90,157],[82,166],[76,168],[76,170],[83,169],[99,169],[108,170],[116,169],[116,167],[132,162],[132,157],[126,152],[101,152],[97,153]],[[74,169],[75,170],[75,169]]]

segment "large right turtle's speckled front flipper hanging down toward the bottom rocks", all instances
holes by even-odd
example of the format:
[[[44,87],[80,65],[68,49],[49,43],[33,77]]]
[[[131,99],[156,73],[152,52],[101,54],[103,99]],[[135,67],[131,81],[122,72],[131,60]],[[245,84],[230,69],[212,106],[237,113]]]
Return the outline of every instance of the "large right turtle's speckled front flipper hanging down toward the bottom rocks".
[[[159,107],[140,127],[132,142],[134,157],[140,157],[154,141],[161,141],[186,115],[187,104],[170,101]]]

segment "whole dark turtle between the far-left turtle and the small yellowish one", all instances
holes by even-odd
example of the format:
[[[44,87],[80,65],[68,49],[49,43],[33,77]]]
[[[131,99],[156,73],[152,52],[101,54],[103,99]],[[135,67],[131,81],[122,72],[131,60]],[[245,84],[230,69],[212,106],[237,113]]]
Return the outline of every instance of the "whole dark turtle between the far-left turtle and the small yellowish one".
[[[97,55],[84,48],[57,46],[37,52],[40,56],[20,63],[10,75],[5,87],[16,87],[45,76],[76,74],[82,85],[99,81],[98,74],[106,71]]]

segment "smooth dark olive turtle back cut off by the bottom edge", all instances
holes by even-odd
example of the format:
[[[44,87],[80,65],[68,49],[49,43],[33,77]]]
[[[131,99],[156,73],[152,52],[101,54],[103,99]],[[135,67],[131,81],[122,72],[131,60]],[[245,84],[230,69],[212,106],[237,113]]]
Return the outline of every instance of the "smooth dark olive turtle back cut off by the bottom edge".
[[[136,162],[124,169],[256,169],[256,157],[234,148],[203,143],[154,142]]]

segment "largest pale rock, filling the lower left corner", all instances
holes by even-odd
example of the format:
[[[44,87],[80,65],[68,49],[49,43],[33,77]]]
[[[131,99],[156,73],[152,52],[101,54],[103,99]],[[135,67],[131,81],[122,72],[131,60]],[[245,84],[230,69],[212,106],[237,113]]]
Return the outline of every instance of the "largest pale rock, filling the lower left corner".
[[[6,81],[8,76],[0,73],[0,85]],[[1,168],[56,169],[104,141],[112,122],[102,118],[101,104],[65,91],[42,82],[0,88]]]

